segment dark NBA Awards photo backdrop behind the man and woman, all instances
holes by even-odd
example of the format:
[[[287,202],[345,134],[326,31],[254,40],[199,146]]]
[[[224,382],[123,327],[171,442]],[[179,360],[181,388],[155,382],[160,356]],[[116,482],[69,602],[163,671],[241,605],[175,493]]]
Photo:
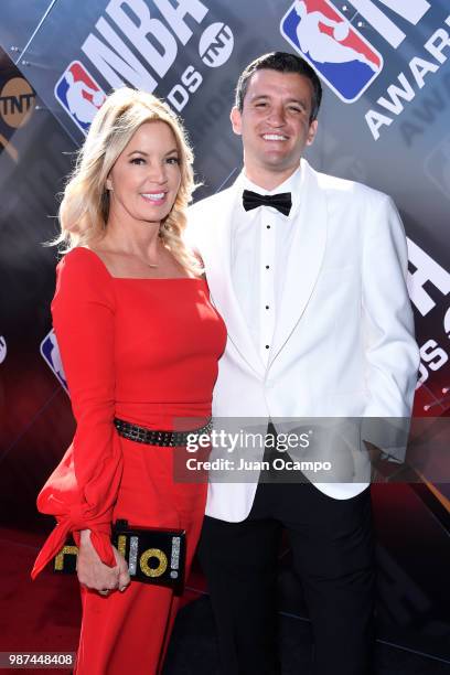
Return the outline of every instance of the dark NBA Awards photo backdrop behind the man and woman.
[[[56,253],[43,243],[57,232],[56,195],[104,95],[140,87],[184,118],[200,199],[240,171],[228,120],[234,86],[249,61],[272,50],[303,55],[323,81],[311,164],[387,192],[401,213],[421,351],[415,416],[429,419],[430,439],[442,433],[436,420],[450,409],[446,0],[2,0],[0,19],[2,524],[50,527],[35,514],[35,495],[74,430],[49,310]],[[377,485],[374,497],[382,635],[450,658],[450,486],[424,476]],[[286,606],[293,598],[303,611],[288,571],[282,579]]]

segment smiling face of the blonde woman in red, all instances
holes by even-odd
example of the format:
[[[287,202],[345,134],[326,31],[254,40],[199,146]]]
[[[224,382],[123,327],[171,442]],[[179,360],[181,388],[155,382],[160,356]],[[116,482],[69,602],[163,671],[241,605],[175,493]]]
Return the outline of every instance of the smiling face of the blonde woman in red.
[[[160,224],[171,211],[181,183],[180,156],[172,129],[144,122],[109,172],[109,219]]]

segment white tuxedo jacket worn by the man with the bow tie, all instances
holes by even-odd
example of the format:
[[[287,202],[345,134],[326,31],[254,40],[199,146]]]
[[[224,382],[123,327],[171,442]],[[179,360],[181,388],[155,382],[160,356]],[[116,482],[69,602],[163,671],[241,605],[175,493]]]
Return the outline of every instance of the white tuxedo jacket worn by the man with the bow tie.
[[[213,416],[408,418],[419,364],[406,288],[407,248],[392,200],[301,161],[300,210],[269,364],[254,345],[231,276],[237,185],[190,208],[188,242],[202,256],[228,340]],[[243,521],[258,475],[211,482],[206,513]],[[335,499],[366,482],[315,483]]]

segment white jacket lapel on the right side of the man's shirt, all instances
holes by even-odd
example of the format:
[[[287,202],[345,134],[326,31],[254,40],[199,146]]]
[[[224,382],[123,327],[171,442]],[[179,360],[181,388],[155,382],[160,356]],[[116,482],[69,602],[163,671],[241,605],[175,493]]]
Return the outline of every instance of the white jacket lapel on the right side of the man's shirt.
[[[301,194],[294,215],[294,235],[288,258],[280,310],[276,322],[269,368],[300,321],[322,266],[326,244],[326,196],[315,172],[301,161]]]

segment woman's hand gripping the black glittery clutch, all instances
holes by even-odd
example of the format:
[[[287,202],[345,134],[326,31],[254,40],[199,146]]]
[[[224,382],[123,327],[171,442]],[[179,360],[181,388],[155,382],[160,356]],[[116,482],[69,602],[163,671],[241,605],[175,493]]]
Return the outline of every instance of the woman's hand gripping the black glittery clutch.
[[[130,582],[128,565],[117,548],[113,546],[113,550],[116,567],[101,562],[90,540],[90,529],[82,529],[76,566],[79,583],[93,590],[106,591],[103,594],[116,589],[124,591]]]

